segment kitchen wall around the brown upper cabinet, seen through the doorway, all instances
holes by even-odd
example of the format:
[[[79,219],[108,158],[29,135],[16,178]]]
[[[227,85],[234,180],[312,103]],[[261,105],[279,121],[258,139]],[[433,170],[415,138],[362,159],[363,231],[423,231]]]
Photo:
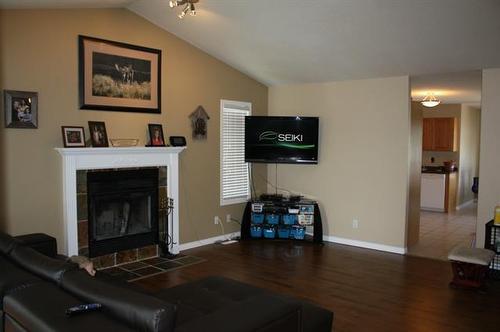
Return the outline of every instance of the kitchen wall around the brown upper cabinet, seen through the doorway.
[[[440,104],[436,107],[427,108],[422,107],[424,118],[457,118],[458,119],[458,137],[457,141],[460,142],[460,104]],[[434,157],[434,163],[431,158]],[[457,166],[460,159],[460,151],[447,152],[447,151],[423,151],[422,152],[422,165],[426,166],[443,166],[443,161],[455,160]]]

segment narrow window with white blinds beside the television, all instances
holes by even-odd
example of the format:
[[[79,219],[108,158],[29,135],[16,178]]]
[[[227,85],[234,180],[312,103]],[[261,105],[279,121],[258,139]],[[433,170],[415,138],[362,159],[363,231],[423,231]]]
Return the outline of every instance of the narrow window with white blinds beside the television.
[[[251,114],[252,104],[221,100],[220,106],[220,205],[243,203],[250,198],[245,116]]]

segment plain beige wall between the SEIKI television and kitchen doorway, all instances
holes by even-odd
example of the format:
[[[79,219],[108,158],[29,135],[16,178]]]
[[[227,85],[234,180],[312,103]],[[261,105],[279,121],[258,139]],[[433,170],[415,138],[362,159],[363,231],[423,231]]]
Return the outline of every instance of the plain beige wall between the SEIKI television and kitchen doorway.
[[[409,108],[408,77],[271,87],[269,114],[320,117],[319,164],[280,165],[279,187],[319,201],[326,235],[404,247]]]

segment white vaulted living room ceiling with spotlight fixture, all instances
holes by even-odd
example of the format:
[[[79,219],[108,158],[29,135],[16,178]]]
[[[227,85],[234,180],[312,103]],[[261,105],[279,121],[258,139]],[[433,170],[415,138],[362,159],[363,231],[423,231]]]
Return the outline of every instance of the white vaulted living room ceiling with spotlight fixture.
[[[498,0],[0,0],[0,6],[126,6],[267,84],[500,67]],[[417,80],[418,82],[418,80]]]

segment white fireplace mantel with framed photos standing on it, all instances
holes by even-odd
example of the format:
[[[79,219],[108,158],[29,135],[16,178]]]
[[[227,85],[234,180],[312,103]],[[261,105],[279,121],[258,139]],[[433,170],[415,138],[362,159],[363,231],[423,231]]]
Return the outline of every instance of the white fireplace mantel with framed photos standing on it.
[[[129,167],[167,167],[167,194],[174,200],[171,252],[179,253],[179,154],[185,147],[56,148],[62,157],[64,253],[78,255],[76,172]]]

